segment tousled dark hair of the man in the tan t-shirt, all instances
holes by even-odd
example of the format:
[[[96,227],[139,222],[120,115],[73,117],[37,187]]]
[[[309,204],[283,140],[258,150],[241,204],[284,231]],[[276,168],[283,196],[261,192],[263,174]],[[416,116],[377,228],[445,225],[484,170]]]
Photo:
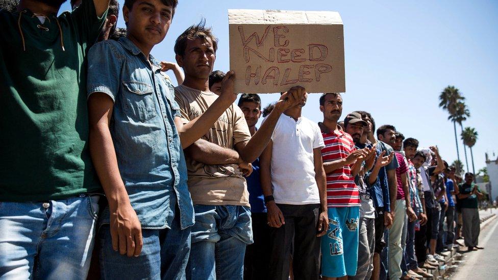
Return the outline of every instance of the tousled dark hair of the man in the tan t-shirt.
[[[195,39],[201,39],[203,43],[205,43],[208,39],[211,39],[214,53],[216,54],[216,50],[218,49],[218,38],[214,37],[211,28],[206,28],[205,19],[202,19],[197,25],[187,28],[187,30],[178,36],[177,41],[175,42],[175,54],[179,56],[185,55],[187,41]]]

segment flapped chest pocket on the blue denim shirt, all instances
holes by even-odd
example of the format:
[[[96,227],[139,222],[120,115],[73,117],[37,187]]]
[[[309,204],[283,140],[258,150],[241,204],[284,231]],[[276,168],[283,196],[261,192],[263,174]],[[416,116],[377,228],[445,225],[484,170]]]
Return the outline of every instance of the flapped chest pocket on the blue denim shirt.
[[[145,122],[157,115],[154,88],[145,83],[123,81],[124,112],[131,118]]]

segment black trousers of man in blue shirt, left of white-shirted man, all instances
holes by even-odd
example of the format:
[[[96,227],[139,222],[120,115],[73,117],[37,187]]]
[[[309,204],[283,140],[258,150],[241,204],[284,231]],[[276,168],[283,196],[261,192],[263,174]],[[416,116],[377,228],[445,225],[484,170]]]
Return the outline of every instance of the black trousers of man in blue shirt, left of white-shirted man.
[[[271,239],[266,213],[251,213],[254,243],[245,247],[244,280],[268,279]]]

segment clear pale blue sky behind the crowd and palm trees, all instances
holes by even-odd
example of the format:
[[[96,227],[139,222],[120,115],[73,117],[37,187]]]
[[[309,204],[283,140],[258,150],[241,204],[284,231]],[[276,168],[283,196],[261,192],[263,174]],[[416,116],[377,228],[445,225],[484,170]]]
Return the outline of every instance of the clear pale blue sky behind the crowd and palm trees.
[[[62,10],[68,9],[64,4]],[[437,144],[443,159],[451,163],[457,158],[453,124],[438,108],[438,96],[444,87],[454,85],[470,109],[464,126],[479,133],[474,147],[476,171],[485,166],[486,151],[498,156],[498,2],[180,0],[165,40],[152,54],[174,61],[175,39],[204,17],[219,38],[214,69],[229,70],[228,9],[339,12],[345,44],[343,116],[368,111],[378,125],[393,124],[406,137],[418,139],[422,147]],[[124,27],[121,14],[118,26]],[[279,96],[261,97],[266,105]],[[314,121],[322,120],[318,98],[312,94],[303,111]],[[460,136],[459,146],[465,164]]]

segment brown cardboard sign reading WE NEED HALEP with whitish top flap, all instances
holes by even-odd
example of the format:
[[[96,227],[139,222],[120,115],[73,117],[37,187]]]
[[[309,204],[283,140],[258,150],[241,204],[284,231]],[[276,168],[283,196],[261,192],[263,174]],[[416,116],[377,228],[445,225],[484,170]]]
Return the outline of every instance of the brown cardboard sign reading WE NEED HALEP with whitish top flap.
[[[228,10],[235,92],[345,92],[337,12]]]

